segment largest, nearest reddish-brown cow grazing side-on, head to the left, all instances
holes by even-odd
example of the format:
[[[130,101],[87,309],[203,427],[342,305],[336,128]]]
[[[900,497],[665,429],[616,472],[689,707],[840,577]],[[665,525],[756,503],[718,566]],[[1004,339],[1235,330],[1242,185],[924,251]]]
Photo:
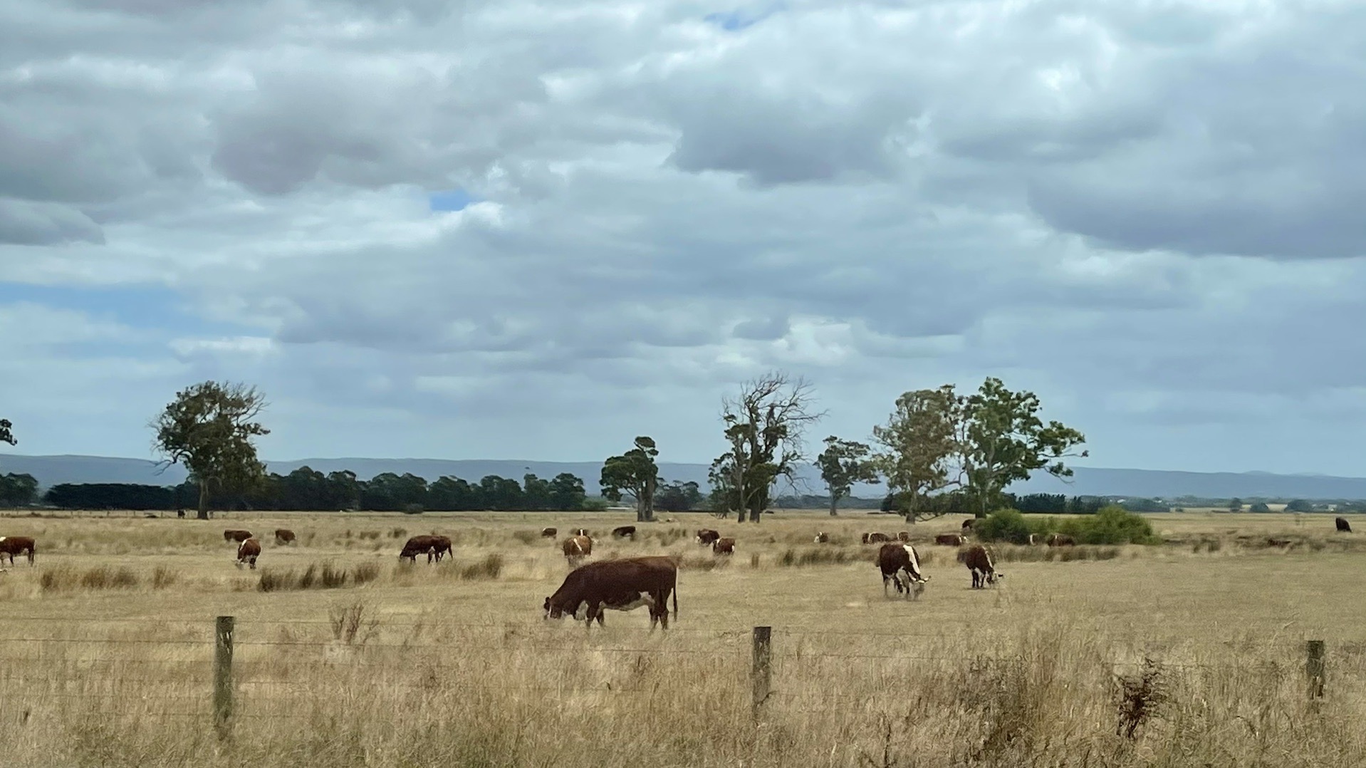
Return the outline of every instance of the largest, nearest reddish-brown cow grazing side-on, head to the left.
[[[679,566],[673,558],[623,558],[598,560],[570,571],[555,594],[545,599],[545,618],[560,619],[566,614],[585,620],[585,629],[597,619],[602,625],[604,609],[634,611],[641,605],[650,609],[650,631],[661,623],[669,629],[668,597],[673,594],[673,618],[679,615]]]

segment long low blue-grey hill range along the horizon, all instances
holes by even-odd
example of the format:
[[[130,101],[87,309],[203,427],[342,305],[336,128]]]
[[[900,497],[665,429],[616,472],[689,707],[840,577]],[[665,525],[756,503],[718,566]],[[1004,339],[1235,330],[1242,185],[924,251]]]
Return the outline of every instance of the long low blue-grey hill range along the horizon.
[[[478,481],[488,474],[510,477],[518,481],[531,473],[550,478],[561,471],[583,478],[589,493],[597,493],[601,462],[526,462],[496,459],[303,459],[291,462],[266,462],[270,471],[288,474],[301,466],[310,466],[321,473],[351,470],[361,480],[392,471],[413,473],[426,480],[441,476],[462,477]],[[660,476],[665,481],[694,481],[706,488],[706,465],[660,463]],[[180,466],[167,467],[157,473],[157,463],[149,459],[124,459],[112,456],[23,456],[0,454],[0,474],[27,473],[38,480],[42,488],[60,482],[145,482],[152,485],[176,485],[186,478]],[[818,495],[825,491],[816,467],[803,467],[798,493]],[[1072,482],[1040,473],[1027,482],[1009,488],[1015,493],[1067,493],[1068,496],[1145,496],[1173,499],[1195,496],[1199,499],[1366,499],[1366,477],[1330,477],[1320,474],[1272,474],[1264,471],[1164,471],[1146,469],[1098,469],[1076,467]],[[781,489],[790,493],[790,489]],[[880,497],[885,491],[880,485],[855,486],[854,495]]]

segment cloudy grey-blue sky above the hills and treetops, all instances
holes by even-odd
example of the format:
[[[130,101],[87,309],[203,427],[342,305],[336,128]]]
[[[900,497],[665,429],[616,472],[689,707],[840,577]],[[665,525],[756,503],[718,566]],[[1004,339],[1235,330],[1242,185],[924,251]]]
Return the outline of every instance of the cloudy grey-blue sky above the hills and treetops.
[[[1366,7],[0,0],[0,415],[149,456],[723,450],[985,376],[1086,466],[1363,474]]]

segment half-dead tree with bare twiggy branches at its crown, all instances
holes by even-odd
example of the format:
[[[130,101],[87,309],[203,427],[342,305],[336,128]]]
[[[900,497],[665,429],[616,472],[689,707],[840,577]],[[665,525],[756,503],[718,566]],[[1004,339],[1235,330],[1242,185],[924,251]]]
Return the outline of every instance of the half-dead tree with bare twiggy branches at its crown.
[[[712,462],[713,486],[723,482],[723,500],[734,500],[739,521],[749,511],[759,522],[768,508],[773,484],[794,481],[803,461],[802,437],[806,426],[825,414],[811,411],[811,387],[785,373],[769,372],[746,381],[740,394],[721,402],[721,421],[731,450]]]

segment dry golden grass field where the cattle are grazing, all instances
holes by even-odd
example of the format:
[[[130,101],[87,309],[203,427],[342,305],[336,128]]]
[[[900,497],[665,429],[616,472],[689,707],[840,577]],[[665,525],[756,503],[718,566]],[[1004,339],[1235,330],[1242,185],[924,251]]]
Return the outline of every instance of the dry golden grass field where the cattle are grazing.
[[[38,540],[36,567],[0,573],[0,764],[1366,765],[1366,533],[1332,515],[1188,511],[1147,515],[1162,545],[996,547],[1005,578],[985,590],[928,543],[958,530],[944,518],[911,527],[930,577],[915,601],[884,599],[858,543],[907,529],[893,517],[667,515],[608,538],[627,517],[0,518]],[[542,620],[568,573],[557,540],[581,525],[594,559],[684,555],[667,633],[645,611],[591,631]],[[258,570],[235,567],[224,527],[261,537]],[[698,527],[736,553],[693,544]],[[398,562],[432,532],[452,560]],[[223,739],[216,615],[236,618]],[[773,670],[755,719],[761,625]],[[1306,640],[1328,649],[1317,708]],[[1149,687],[1126,700],[1145,659]]]

